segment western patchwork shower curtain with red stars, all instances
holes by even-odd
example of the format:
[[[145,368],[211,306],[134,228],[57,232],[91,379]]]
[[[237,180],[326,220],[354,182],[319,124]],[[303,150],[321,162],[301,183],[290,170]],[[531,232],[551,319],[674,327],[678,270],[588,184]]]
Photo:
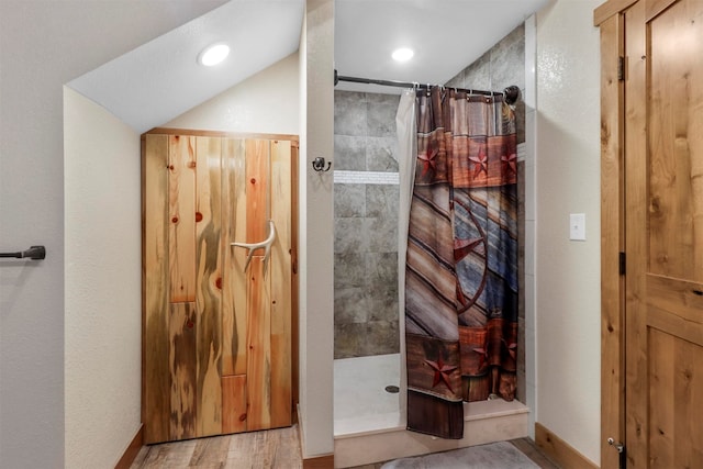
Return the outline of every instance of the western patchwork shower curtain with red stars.
[[[513,400],[517,349],[515,116],[502,97],[416,97],[405,265],[408,428],[464,437],[464,401]]]

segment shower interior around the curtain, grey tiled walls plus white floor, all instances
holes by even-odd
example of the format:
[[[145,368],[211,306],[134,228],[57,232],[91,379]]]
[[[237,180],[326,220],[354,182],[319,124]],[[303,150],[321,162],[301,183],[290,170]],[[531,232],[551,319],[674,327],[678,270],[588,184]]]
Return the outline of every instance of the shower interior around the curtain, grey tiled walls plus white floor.
[[[524,346],[525,64],[525,25],[520,24],[445,83],[447,88],[503,90],[516,85],[521,89],[514,112],[518,287],[515,398],[522,403],[529,401],[526,391],[533,389],[526,382]],[[388,88],[388,93],[386,89],[335,90],[335,436],[404,429],[406,424],[405,326],[404,312],[399,311],[398,287],[399,213],[408,197],[399,185],[404,175],[404,165],[399,166],[401,150],[395,129],[400,93],[398,88]],[[404,277],[404,267],[400,275]],[[398,393],[386,390],[393,387],[399,388]]]

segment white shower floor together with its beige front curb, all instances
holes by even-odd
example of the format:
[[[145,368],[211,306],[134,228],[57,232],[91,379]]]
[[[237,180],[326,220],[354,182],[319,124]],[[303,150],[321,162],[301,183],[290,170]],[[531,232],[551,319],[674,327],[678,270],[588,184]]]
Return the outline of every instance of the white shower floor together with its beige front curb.
[[[440,439],[405,429],[400,413],[400,356],[334,360],[335,467],[368,465],[528,436],[529,410],[503,400],[464,404],[464,438]],[[402,392],[402,387],[401,387]]]

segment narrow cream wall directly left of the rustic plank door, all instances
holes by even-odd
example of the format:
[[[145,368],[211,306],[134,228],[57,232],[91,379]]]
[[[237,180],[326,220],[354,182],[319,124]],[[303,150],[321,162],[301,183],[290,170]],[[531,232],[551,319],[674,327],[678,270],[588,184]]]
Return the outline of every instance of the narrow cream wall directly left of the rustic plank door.
[[[135,131],[64,88],[67,468],[114,467],[140,427],[138,155]]]

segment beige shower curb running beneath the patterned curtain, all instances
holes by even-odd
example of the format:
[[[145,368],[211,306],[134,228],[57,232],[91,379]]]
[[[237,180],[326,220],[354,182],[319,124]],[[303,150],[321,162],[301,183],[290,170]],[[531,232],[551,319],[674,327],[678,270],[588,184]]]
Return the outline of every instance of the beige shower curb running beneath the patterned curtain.
[[[382,421],[378,415],[379,422]],[[521,402],[501,399],[464,404],[464,438],[442,439],[405,429],[398,414],[389,414],[388,427],[356,428],[348,425],[337,432],[335,423],[334,465],[338,468],[370,465],[409,456],[446,451],[468,446],[528,436],[529,409]],[[345,424],[345,423],[343,423]]]

